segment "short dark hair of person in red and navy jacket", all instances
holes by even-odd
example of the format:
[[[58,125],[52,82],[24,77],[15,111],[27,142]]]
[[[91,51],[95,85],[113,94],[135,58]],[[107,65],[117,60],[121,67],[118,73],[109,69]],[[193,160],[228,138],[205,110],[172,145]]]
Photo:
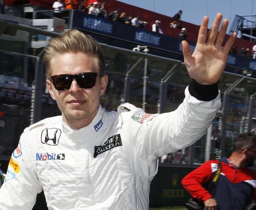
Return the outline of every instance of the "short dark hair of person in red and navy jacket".
[[[256,135],[251,132],[240,133],[234,141],[234,152],[250,149],[256,141]]]

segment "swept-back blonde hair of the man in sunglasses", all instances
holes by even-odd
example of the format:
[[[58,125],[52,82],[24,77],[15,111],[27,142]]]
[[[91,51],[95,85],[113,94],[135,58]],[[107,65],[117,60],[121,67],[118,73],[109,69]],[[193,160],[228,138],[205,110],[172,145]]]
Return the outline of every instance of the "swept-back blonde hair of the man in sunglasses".
[[[105,75],[105,60],[99,43],[90,35],[84,35],[82,32],[72,29],[49,40],[44,54],[47,78],[50,79],[50,69],[56,55],[79,52],[91,53],[95,58],[99,73]]]

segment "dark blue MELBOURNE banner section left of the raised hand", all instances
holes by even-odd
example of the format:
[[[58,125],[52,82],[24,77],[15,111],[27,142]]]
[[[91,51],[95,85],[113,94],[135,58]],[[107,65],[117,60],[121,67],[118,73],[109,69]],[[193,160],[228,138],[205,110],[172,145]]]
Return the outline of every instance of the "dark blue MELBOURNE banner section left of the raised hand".
[[[125,23],[108,20],[80,11],[74,11],[73,28],[107,35],[112,38],[126,40],[136,44],[157,47],[168,51],[177,52],[180,48],[180,40],[178,38],[129,26]]]

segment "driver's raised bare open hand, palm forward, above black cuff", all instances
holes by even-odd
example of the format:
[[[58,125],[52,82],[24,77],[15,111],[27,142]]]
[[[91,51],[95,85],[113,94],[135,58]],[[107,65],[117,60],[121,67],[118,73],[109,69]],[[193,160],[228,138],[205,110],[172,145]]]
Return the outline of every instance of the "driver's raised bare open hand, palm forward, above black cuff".
[[[213,84],[219,81],[226,66],[230,48],[236,40],[237,34],[234,32],[227,40],[224,47],[222,47],[227,31],[228,20],[223,20],[219,32],[218,29],[221,19],[222,14],[216,14],[212,29],[208,33],[209,18],[207,16],[203,18],[195,51],[192,55],[189,44],[186,41],[182,41],[184,63],[189,76],[200,84]]]

